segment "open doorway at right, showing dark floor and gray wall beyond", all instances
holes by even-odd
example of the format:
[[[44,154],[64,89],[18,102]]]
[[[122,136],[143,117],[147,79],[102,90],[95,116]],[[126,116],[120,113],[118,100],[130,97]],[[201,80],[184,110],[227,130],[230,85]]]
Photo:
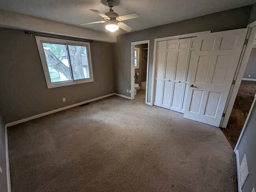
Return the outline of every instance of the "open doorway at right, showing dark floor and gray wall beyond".
[[[222,129],[235,148],[256,95],[256,47],[253,47],[226,128]]]

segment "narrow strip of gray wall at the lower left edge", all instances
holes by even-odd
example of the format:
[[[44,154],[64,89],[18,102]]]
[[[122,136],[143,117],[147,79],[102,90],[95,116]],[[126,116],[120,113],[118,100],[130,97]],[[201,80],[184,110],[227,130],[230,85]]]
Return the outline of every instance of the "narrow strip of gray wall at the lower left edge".
[[[7,192],[6,135],[5,135],[4,121],[1,115],[0,115],[0,166],[2,168],[2,174],[0,174],[0,191]]]

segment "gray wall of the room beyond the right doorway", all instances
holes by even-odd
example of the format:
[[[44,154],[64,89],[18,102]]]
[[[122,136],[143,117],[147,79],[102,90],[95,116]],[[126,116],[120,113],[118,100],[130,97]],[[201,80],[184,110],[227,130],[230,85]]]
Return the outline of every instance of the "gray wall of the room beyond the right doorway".
[[[250,77],[249,77],[250,75]],[[256,48],[252,48],[243,78],[256,79]]]

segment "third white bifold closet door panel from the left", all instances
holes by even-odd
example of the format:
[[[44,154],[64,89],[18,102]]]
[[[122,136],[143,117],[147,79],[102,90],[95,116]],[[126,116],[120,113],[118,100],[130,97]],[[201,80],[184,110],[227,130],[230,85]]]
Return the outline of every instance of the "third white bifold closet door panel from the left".
[[[184,95],[184,84],[186,80],[185,78],[189,57],[190,42],[191,38],[178,40],[177,59],[174,71],[174,82],[170,107],[171,110],[177,112],[180,112],[181,110],[181,104]]]

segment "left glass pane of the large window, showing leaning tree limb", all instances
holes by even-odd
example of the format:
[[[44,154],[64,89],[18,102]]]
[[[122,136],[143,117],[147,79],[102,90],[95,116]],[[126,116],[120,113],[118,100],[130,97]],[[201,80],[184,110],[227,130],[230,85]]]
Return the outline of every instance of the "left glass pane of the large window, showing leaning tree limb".
[[[66,46],[42,43],[51,82],[71,80]]]

